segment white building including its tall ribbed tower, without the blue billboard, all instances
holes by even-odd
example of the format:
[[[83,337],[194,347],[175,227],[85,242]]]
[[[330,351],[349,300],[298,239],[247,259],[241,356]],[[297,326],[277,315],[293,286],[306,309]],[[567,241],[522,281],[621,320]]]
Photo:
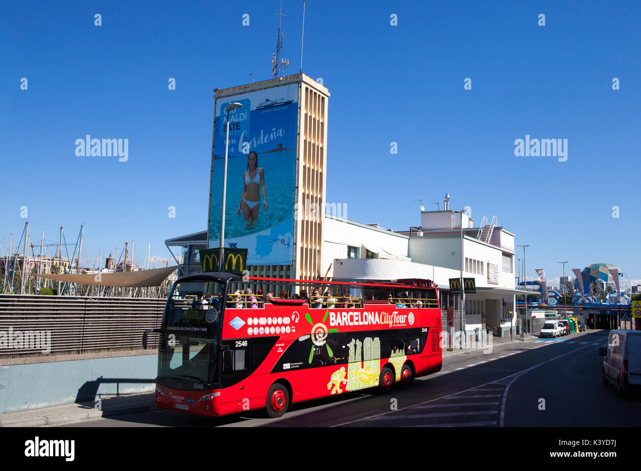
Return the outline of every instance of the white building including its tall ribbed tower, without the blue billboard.
[[[311,203],[315,208],[326,208],[329,120],[326,87],[305,74],[295,74],[217,89],[215,99],[222,101],[240,93],[293,84],[298,87],[298,125],[292,206],[306,208]],[[212,171],[214,158],[212,151]],[[212,192],[219,191],[210,188],[210,197]],[[458,279],[463,270],[463,277],[474,278],[476,283],[476,293],[465,295],[465,331],[488,329],[494,335],[509,335],[515,319],[515,295],[520,293],[515,289],[514,234],[499,226],[495,217],[492,222],[483,218],[474,227],[468,213],[449,209],[446,195],[443,210],[421,210],[420,227],[408,227],[407,231],[362,224],[326,214],[324,210],[299,211],[295,220],[293,263],[248,265],[246,269],[251,276],[301,280],[327,276],[334,281],[431,279],[438,286],[444,319],[445,309],[453,307],[454,327],[460,330],[458,291],[456,295],[450,292],[449,279]],[[172,252],[181,265],[181,275],[200,271],[199,250],[212,246],[208,231],[168,239],[165,245],[170,252],[170,247],[181,248],[182,258]],[[180,258],[183,263],[178,261]]]

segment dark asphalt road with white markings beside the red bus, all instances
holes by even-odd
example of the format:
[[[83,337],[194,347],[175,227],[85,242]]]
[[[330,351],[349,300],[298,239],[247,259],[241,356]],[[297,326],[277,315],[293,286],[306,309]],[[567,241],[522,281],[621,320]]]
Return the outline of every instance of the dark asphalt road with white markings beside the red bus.
[[[388,394],[344,394],[296,404],[279,419],[261,411],[208,418],[151,411],[72,427],[614,427],[641,424],[641,399],[601,383],[608,331],[515,342],[489,354],[444,359],[441,372]]]

